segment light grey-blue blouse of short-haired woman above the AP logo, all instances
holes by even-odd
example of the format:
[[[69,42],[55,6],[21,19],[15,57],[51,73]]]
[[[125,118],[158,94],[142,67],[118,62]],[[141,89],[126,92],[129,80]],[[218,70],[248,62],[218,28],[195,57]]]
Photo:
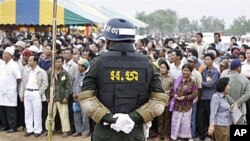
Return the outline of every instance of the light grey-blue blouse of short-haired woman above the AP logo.
[[[221,93],[215,93],[210,103],[210,124],[229,126],[232,124],[230,104]]]

